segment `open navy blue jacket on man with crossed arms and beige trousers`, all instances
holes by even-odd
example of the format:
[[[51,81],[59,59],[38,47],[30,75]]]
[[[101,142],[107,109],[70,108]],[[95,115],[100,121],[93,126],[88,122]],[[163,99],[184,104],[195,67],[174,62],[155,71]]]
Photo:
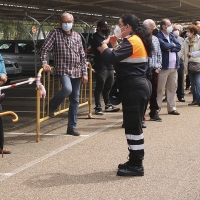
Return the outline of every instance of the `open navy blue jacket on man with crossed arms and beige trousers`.
[[[178,56],[178,52],[181,50],[181,45],[179,44],[178,40],[175,38],[175,36],[170,33],[169,39],[170,43],[168,42],[167,38],[164,36],[162,31],[158,32],[157,35],[159,42],[160,42],[160,48],[162,51],[162,69],[167,70],[169,68],[169,49],[171,52],[176,52],[176,67],[180,67],[180,59]],[[174,46],[174,44],[176,46]]]

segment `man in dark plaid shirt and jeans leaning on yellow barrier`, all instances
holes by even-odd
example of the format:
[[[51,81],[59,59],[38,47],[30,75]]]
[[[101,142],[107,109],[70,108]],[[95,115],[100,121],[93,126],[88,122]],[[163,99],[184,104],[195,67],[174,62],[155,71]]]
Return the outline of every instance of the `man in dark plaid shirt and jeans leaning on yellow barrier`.
[[[81,36],[72,30],[73,15],[64,12],[60,17],[60,28],[53,29],[45,39],[41,48],[41,60],[44,71],[50,71],[47,63],[48,52],[53,49],[55,73],[59,75],[62,89],[51,99],[49,116],[62,101],[69,97],[67,134],[79,136],[76,130],[77,112],[79,104],[80,84],[87,83],[87,63]]]

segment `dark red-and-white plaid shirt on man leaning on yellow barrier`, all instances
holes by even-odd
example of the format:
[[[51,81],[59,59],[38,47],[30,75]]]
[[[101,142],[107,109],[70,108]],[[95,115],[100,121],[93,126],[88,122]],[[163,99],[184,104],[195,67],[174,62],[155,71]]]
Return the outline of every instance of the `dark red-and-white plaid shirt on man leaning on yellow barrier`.
[[[50,31],[42,48],[41,61],[47,61],[48,52],[53,49],[56,74],[79,78],[87,75],[87,63],[81,36],[72,31],[65,34],[61,28]]]

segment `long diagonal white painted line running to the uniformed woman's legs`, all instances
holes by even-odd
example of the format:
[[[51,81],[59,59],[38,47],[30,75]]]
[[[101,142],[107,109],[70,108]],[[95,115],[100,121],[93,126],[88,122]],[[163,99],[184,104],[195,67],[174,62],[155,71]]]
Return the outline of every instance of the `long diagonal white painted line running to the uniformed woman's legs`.
[[[56,149],[54,151],[51,151],[50,153],[48,153],[48,154],[46,154],[44,156],[41,156],[40,158],[37,158],[37,159],[35,159],[35,160],[33,160],[33,161],[29,162],[29,163],[26,163],[26,164],[22,165],[21,167],[18,167],[17,169],[12,170],[9,173],[4,173],[4,174],[2,174],[2,176],[0,176],[0,181],[6,180],[7,178],[9,178],[11,176],[14,176],[14,175],[16,175],[16,174],[18,174],[18,173],[20,173],[20,172],[22,172],[22,171],[24,171],[24,170],[26,170],[28,168],[31,168],[34,165],[36,165],[38,163],[41,163],[44,160],[46,160],[46,159],[48,159],[48,158],[50,158],[50,157],[52,157],[52,156],[64,151],[64,150],[66,150],[66,149],[68,149],[68,148],[70,148],[70,147],[72,147],[72,146],[74,146],[76,144],[79,144],[80,142],[83,142],[84,140],[86,140],[86,139],[88,139],[90,137],[93,137],[94,135],[97,135],[98,133],[101,133],[101,132],[103,132],[103,131],[115,126],[119,122],[122,122],[122,119],[116,120],[115,122],[111,123],[110,125],[106,125],[105,127],[100,128],[100,129],[92,132],[88,137],[78,137],[79,139],[77,139],[77,140],[75,140],[75,141],[73,141],[73,142],[71,142],[71,143],[69,143],[67,145],[64,145],[64,146],[62,146],[62,147],[60,147],[60,148],[58,148],[58,149]]]

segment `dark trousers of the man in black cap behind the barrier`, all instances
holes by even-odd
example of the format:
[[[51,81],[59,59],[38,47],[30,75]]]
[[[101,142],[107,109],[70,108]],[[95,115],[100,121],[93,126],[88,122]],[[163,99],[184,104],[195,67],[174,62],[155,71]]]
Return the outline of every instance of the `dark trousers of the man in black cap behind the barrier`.
[[[101,94],[103,95],[105,105],[109,104],[109,93],[114,83],[114,70],[96,70],[95,79],[95,105],[101,107]]]

